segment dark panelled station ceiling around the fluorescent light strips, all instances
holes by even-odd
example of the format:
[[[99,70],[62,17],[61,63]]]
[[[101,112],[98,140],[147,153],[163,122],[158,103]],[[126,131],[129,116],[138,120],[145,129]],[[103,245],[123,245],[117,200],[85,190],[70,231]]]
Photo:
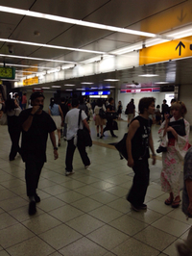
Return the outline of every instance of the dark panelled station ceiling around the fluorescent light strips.
[[[73,18],[118,28],[127,28],[154,34],[163,34],[176,28],[192,24],[192,0],[0,0],[0,6],[47,13],[61,17]],[[186,10],[186,6],[191,9]],[[1,11],[1,8],[0,8]],[[0,38],[19,41],[29,41],[50,45],[60,45],[83,50],[110,53],[116,49],[144,41],[146,37],[131,34],[95,29],[60,21],[37,18],[28,15],[0,12]],[[13,52],[9,52],[8,45],[12,44]],[[51,60],[62,60],[79,64],[88,58],[98,56],[96,53],[79,52],[68,49],[46,48],[35,45],[10,43],[0,41],[0,63],[28,65],[28,71],[33,73],[30,66],[44,66],[56,68],[59,63]],[[44,60],[18,59],[13,56],[32,57]],[[26,67],[16,66],[16,74],[26,71]],[[43,71],[43,68],[40,69]],[[171,61],[146,66],[135,66],[122,70],[113,70],[85,77],[61,79],[36,85],[36,87],[60,86],[66,90],[64,84],[74,84],[73,89],[85,88],[82,82],[92,82],[91,87],[100,88],[114,86],[116,89],[132,87],[140,84],[142,87],[158,86],[156,82],[167,81],[170,84],[192,84],[192,58]],[[156,73],[156,77],[140,77],[141,74]],[[18,78],[18,76],[16,76]],[[105,82],[105,79],[118,79],[117,82]],[[129,86],[128,86],[129,85]],[[34,88],[31,86],[29,88]]]

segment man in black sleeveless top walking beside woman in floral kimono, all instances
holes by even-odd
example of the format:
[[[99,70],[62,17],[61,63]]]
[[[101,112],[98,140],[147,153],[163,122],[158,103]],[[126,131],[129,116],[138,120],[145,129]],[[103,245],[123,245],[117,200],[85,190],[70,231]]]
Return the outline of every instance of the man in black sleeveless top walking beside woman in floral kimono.
[[[146,97],[139,101],[140,115],[132,119],[127,137],[128,166],[132,167],[134,177],[132,189],[127,200],[131,203],[134,211],[146,210],[144,204],[145,194],[149,185],[150,169],[148,164],[149,147],[152,150],[153,165],[156,164],[156,154],[152,139],[151,126],[152,120],[149,115],[155,112],[155,98]]]

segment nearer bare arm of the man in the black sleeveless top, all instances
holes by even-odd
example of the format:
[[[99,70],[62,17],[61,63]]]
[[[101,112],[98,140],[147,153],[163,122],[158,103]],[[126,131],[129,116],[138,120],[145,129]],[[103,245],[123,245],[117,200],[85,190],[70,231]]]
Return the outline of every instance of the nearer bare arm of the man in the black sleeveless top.
[[[138,120],[132,121],[130,127],[129,127],[129,132],[126,140],[126,147],[127,147],[127,152],[128,152],[128,166],[132,167],[134,165],[134,161],[132,159],[132,138],[139,128],[140,124]]]

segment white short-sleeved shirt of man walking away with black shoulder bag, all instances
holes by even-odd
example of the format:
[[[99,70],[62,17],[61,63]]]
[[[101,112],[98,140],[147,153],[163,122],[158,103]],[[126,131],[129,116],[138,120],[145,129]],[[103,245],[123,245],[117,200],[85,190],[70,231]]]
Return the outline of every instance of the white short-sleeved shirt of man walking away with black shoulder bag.
[[[79,129],[78,121],[79,121],[80,110],[74,108],[70,110],[65,116],[65,123],[67,123],[67,133],[66,140],[71,140]],[[83,120],[86,119],[87,115],[85,115],[84,111],[82,111],[82,120],[80,122],[80,129],[83,129]]]

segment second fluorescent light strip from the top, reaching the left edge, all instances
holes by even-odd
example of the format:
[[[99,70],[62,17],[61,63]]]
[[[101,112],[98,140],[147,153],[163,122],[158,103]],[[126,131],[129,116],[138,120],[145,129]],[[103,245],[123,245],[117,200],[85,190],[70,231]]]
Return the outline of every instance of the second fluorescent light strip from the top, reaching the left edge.
[[[51,45],[51,44],[45,44],[45,43],[37,43],[32,41],[22,41],[22,40],[12,40],[8,38],[0,38],[0,41],[6,41],[11,43],[19,43],[19,44],[27,44],[27,45],[33,45],[38,47],[46,47],[46,48],[53,48],[53,49],[60,49],[60,50],[68,50],[68,51],[77,51],[77,52],[86,52],[86,53],[95,53],[95,54],[106,54],[105,52],[99,52],[99,51],[91,51],[91,50],[85,50],[85,49],[79,49],[79,48],[70,48],[70,47],[64,47],[59,45]]]

